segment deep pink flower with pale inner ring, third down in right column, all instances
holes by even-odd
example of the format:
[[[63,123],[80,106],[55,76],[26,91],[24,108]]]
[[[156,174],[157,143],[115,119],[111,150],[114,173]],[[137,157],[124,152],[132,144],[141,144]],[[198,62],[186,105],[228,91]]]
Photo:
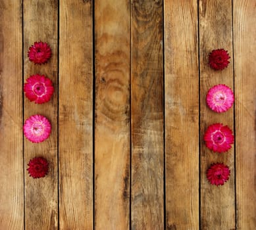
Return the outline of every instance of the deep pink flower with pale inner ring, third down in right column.
[[[234,143],[232,130],[222,124],[213,124],[207,128],[203,137],[205,145],[214,152],[226,152]]]

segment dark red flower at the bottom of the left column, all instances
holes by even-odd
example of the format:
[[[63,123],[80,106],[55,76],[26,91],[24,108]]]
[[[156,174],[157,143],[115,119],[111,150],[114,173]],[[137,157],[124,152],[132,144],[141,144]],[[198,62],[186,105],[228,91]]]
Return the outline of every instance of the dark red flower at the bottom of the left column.
[[[35,157],[28,163],[29,168],[28,173],[30,173],[30,177],[40,178],[45,177],[49,170],[49,164],[47,160],[43,157]]]

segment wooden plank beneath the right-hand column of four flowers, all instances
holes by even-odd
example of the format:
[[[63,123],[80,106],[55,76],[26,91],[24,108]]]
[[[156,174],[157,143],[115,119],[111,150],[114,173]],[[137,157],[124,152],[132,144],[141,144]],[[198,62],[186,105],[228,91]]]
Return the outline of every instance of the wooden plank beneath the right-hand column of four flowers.
[[[219,154],[207,149],[203,135],[211,124],[222,123],[234,130],[234,108],[218,114],[205,102],[207,91],[217,84],[233,89],[233,61],[228,68],[213,70],[208,56],[213,49],[228,50],[232,57],[232,1],[199,1],[199,55],[200,55],[200,136],[201,136],[201,229],[235,229],[234,147]],[[207,168],[215,162],[229,166],[230,179],[224,186],[210,185]]]

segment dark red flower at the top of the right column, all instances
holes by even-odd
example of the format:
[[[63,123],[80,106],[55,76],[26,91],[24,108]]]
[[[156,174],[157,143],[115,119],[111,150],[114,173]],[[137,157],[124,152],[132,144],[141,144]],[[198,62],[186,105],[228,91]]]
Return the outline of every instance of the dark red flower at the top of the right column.
[[[215,70],[223,70],[228,66],[228,51],[215,49],[209,54],[209,65]]]

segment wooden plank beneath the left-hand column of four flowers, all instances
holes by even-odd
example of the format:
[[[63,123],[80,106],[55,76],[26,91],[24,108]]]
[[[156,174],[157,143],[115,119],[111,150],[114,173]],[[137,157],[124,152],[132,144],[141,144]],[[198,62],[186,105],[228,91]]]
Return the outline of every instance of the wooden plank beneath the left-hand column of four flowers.
[[[24,137],[25,227],[26,229],[58,229],[57,170],[57,23],[58,1],[23,1],[24,81],[33,74],[44,74],[53,81],[55,92],[45,104],[31,103],[24,98],[24,119],[34,114],[46,116],[51,122],[51,135],[43,143],[31,143]],[[28,49],[35,41],[47,42],[52,57],[47,64],[35,65],[28,59]],[[49,161],[49,173],[41,179],[29,177],[26,169],[31,158],[43,156]]]

